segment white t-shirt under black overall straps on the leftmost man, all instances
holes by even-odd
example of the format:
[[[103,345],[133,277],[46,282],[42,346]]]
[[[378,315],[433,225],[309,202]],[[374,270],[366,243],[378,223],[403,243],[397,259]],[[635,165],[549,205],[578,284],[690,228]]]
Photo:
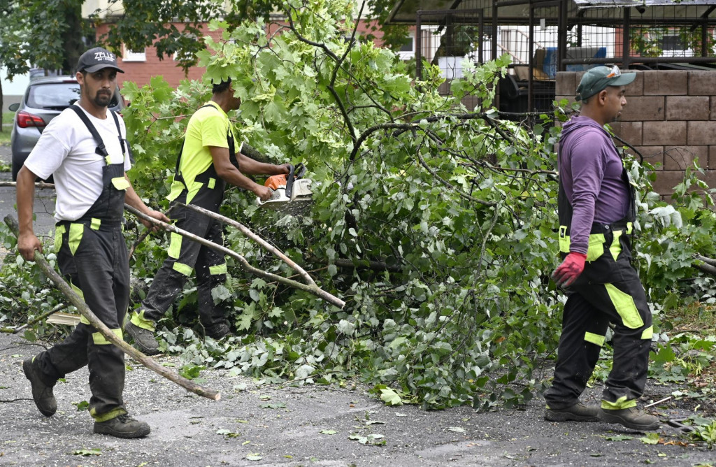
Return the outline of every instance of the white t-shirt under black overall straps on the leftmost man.
[[[84,113],[105,142],[110,163],[121,163],[124,160],[125,171],[129,170],[132,163],[129,155],[126,158],[122,155],[117,125],[110,110],[107,110],[107,118],[104,120]],[[117,118],[120,120],[122,138],[127,138],[125,122],[119,115]],[[74,110],[65,109],[49,122],[32,153],[27,156],[25,165],[32,173],[40,178],[54,175],[57,192],[54,218],[57,221],[77,220],[100,197],[105,160],[95,152],[96,149],[97,143],[87,126]]]

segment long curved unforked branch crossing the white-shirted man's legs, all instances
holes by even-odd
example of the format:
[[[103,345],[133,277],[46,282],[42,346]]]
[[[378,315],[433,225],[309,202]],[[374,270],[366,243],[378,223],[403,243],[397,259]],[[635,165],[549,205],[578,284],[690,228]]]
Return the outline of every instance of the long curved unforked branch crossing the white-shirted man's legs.
[[[14,233],[15,236],[18,236],[19,226],[17,224],[17,221],[12,216],[5,216],[5,223],[9,226],[12,233]],[[176,372],[173,372],[172,370],[169,370],[168,368],[159,365],[157,362],[155,362],[153,358],[147,357],[147,355],[144,355],[139,350],[127,344],[127,342],[121,340],[119,337],[117,337],[117,334],[110,331],[110,328],[108,328],[105,323],[101,322],[100,319],[97,318],[94,313],[92,313],[92,310],[87,307],[87,304],[84,303],[84,300],[82,300],[82,298],[80,298],[79,295],[77,295],[74,290],[69,287],[69,284],[67,284],[67,282],[62,279],[62,276],[60,276],[57,271],[52,268],[52,266],[50,266],[50,264],[47,262],[47,259],[45,259],[39,251],[35,251],[34,259],[35,264],[37,264],[37,266],[42,269],[42,272],[44,272],[44,274],[49,277],[49,279],[53,281],[55,285],[57,285],[57,288],[60,290],[60,292],[62,292],[67,297],[67,299],[69,299],[69,302],[72,303],[75,307],[77,307],[77,311],[79,311],[79,313],[82,314],[82,316],[85,317],[87,321],[89,321],[89,324],[92,324],[92,326],[94,326],[97,331],[99,331],[103,336],[105,336],[108,341],[112,342],[112,344],[116,345],[117,347],[120,347],[122,352],[125,352],[125,354],[130,355],[130,357],[134,358],[142,365],[149,368],[158,375],[167,378],[171,382],[175,382],[176,384],[180,385],[181,387],[194,394],[212,400],[219,400],[221,398],[221,395],[215,390],[200,386],[195,382],[187,380],[185,377],[181,377]]]

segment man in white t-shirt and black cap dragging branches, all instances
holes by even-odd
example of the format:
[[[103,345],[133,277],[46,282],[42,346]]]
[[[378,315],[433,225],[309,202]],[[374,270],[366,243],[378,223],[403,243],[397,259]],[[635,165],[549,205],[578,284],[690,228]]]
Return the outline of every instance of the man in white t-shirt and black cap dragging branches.
[[[100,47],[79,57],[80,97],[45,128],[17,176],[17,247],[32,261],[42,244],[32,228],[34,182],[54,175],[57,191],[54,251],[62,274],[89,309],[117,336],[129,306],[129,258],[122,235],[125,202],[168,222],[137,196],[125,173],[131,167],[122,117],[107,111],[117,87],[117,57]],[[147,221],[142,221],[150,227]],[[32,398],[47,417],[57,411],[52,388],[59,378],[84,365],[89,369],[89,413],[95,433],[141,438],[147,423],[127,415],[122,392],[124,353],[82,318],[51,349],[24,360]]]

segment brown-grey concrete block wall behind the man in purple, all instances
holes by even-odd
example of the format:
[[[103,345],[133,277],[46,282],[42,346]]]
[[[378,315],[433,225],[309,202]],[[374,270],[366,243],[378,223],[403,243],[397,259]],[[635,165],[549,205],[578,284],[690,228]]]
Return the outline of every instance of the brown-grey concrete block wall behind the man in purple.
[[[558,72],[556,99],[574,102],[582,74]],[[716,188],[716,72],[637,71],[626,97],[611,127],[654,165],[654,191],[669,198],[695,158],[705,169],[702,178]]]

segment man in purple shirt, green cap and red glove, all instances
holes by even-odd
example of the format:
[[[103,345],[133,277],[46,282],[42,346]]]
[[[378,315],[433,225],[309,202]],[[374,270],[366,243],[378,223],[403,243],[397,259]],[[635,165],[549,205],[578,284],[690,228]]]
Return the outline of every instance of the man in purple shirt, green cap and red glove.
[[[657,430],[659,418],[637,409],[644,393],[652,343],[652,314],[632,266],[634,189],[604,125],[627,104],[624,86],[636,73],[594,67],[576,99],[581,112],[562,129],[559,147],[559,251],[552,278],[566,289],[557,363],[545,391],[545,419],[621,423]],[[601,407],[581,403],[599,360],[609,323],[614,362]]]

